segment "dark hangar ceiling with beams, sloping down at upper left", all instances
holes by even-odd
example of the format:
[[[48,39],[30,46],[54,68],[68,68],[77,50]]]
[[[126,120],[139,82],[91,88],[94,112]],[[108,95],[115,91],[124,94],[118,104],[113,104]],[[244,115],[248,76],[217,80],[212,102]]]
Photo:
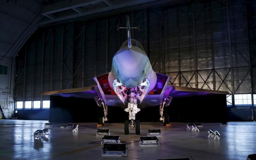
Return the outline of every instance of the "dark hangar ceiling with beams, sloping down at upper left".
[[[1,0],[0,60],[16,55],[38,26],[131,6],[152,5],[156,0]],[[158,0],[174,3],[178,0]]]

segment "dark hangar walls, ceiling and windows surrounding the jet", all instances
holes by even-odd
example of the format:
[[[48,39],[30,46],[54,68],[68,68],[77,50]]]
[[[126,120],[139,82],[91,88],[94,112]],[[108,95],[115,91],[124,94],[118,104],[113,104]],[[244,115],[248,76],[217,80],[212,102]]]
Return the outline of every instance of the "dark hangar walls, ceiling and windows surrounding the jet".
[[[1,2],[1,99],[6,118],[48,120],[49,95],[95,85],[132,38],[170,84],[227,91],[229,121],[255,120],[255,1]],[[209,101],[208,103],[211,103]],[[207,106],[207,103],[205,104]],[[191,107],[191,106],[184,106]],[[18,113],[14,114],[17,110]]]

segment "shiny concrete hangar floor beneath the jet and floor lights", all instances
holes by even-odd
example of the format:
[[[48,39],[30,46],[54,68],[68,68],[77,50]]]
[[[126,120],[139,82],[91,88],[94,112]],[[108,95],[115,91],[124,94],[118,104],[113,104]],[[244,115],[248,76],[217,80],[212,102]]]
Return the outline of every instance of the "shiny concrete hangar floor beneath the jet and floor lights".
[[[53,124],[48,139],[35,139],[33,132],[43,129],[47,121],[0,120],[0,159],[113,159],[101,156],[101,136],[96,137],[96,123],[80,123],[76,133]],[[119,135],[121,143],[128,147],[127,156],[116,159],[246,159],[256,153],[256,123],[203,123],[200,132],[186,129],[186,123],[141,123],[141,134],[130,130],[124,134],[124,124],[105,123],[102,128],[110,129],[110,135]],[[207,131],[215,128],[220,132],[220,140],[207,138]],[[146,136],[148,129],[161,129],[160,146],[140,147],[139,137]]]

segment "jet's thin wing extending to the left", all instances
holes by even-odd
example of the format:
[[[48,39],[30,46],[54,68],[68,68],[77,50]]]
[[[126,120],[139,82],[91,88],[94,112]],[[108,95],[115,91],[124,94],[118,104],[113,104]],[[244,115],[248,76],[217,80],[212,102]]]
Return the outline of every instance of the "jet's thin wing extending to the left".
[[[39,95],[59,95],[62,97],[94,99],[94,97],[98,95],[97,90],[99,90],[98,86],[89,86],[89,87],[80,87],[80,88],[73,88],[73,89],[43,92],[43,93],[40,93]],[[101,97],[100,95],[98,96]]]

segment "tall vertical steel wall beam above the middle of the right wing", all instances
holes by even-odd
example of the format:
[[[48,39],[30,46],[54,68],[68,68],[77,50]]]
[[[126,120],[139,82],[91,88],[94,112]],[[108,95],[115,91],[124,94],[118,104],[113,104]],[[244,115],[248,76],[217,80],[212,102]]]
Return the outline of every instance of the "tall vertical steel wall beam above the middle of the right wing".
[[[195,61],[195,82],[196,88],[198,88],[198,75],[197,75],[197,53],[196,53],[196,22],[195,22],[195,2],[193,2],[192,7],[192,21],[193,21],[193,35],[194,35],[194,61]]]

